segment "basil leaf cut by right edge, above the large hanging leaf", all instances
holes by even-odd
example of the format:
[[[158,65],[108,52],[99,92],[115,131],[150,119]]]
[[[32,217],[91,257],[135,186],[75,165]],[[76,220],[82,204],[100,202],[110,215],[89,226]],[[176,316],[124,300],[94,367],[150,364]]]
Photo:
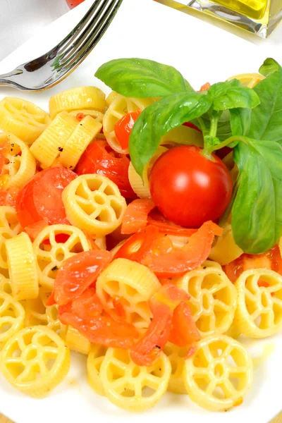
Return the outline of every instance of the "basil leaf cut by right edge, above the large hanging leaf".
[[[252,110],[248,137],[255,140],[282,140],[282,71],[273,73],[254,88],[260,104]]]

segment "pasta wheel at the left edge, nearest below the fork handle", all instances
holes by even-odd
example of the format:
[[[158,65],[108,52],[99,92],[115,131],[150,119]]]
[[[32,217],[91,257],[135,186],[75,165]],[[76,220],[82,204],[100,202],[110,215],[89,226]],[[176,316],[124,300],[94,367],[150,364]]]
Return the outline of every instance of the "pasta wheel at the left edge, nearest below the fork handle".
[[[49,115],[35,104],[16,97],[0,102],[0,128],[12,133],[27,145],[32,144],[47,128]]]

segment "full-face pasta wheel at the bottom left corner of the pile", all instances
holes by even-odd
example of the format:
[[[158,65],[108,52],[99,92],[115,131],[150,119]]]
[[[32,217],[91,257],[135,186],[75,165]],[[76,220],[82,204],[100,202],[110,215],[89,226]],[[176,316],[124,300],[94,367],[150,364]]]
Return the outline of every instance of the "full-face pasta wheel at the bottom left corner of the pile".
[[[46,326],[32,326],[15,333],[1,352],[4,377],[33,398],[42,398],[59,385],[70,364],[70,350]]]

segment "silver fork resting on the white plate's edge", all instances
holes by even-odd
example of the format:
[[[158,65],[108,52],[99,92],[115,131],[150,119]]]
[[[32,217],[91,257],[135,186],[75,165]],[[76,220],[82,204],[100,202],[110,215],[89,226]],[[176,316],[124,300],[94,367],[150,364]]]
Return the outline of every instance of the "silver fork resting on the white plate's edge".
[[[94,0],[78,25],[53,49],[0,75],[0,85],[23,91],[42,91],[66,78],[90,54],[123,0]]]

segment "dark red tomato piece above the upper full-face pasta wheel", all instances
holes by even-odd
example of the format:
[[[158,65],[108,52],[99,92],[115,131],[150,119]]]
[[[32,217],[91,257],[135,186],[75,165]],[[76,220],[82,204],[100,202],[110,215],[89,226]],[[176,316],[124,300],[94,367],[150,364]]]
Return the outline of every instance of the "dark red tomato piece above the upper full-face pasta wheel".
[[[125,198],[136,198],[128,180],[128,166],[130,160],[125,154],[114,152],[105,140],[95,140],[80,157],[75,172],[78,175],[85,173],[99,173],[111,179],[121,195]]]

